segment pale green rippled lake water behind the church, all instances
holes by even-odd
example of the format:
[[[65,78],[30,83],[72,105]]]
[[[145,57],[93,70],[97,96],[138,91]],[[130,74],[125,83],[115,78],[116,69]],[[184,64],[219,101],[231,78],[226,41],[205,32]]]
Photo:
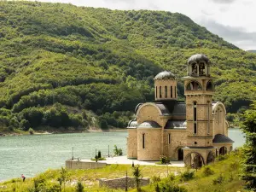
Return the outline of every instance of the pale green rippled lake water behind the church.
[[[238,129],[230,130],[229,136],[235,141],[234,148],[245,142]],[[96,149],[108,155],[108,145],[111,155],[115,144],[126,154],[126,137],[125,131],[0,137],[0,181],[65,166],[65,160],[72,158],[72,148],[74,157],[81,159],[94,157]]]

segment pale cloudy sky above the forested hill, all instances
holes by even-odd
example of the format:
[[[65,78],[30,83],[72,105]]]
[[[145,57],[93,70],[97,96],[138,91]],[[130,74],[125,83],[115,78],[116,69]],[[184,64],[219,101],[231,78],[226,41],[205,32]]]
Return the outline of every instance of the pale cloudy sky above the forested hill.
[[[197,24],[241,49],[256,49],[256,0],[39,0],[108,9],[165,10]]]

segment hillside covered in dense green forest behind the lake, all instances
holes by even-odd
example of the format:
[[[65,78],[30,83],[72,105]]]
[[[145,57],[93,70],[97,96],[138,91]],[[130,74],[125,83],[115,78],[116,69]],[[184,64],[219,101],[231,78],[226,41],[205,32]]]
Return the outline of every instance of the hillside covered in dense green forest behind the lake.
[[[182,77],[198,52],[212,61],[214,99],[229,112],[255,98],[256,55],[185,15],[2,1],[0,27],[5,130],[96,126],[94,113],[102,128],[124,127],[138,102],[153,100],[154,75]]]

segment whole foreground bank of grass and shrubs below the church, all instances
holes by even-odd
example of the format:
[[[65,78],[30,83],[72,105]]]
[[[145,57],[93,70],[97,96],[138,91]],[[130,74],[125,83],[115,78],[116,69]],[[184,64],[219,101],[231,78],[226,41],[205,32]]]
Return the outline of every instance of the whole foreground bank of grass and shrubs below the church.
[[[214,164],[204,166],[197,172],[186,168],[166,166],[140,166],[140,174],[143,177],[150,177],[151,183],[142,187],[142,191],[178,191],[167,189],[180,189],[180,191],[203,191],[203,192],[226,192],[246,191],[243,189],[244,181],[241,180],[241,150],[218,158]],[[64,170],[64,171],[63,171]],[[112,165],[96,170],[65,171],[49,170],[37,177],[28,178],[22,182],[21,178],[0,183],[3,191],[37,191],[35,184],[41,184],[41,191],[76,191],[77,183],[84,186],[84,191],[109,191],[110,189],[99,188],[97,178],[133,177],[131,165]],[[167,175],[168,173],[168,175]],[[60,185],[60,180],[62,181]],[[64,183],[65,181],[65,183]],[[65,187],[64,187],[65,185]],[[6,187],[6,188],[3,188]],[[176,187],[175,187],[176,186]],[[165,190],[166,189],[166,190]],[[40,191],[40,190],[39,190]],[[111,189],[111,191],[124,191]],[[129,189],[137,191],[137,189]]]

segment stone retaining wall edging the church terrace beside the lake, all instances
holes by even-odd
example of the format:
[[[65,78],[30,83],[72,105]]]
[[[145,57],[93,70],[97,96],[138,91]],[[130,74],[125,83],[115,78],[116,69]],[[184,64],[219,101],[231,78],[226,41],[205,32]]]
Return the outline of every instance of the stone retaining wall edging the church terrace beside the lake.
[[[107,163],[82,160],[66,160],[67,169],[96,169],[107,166]]]

